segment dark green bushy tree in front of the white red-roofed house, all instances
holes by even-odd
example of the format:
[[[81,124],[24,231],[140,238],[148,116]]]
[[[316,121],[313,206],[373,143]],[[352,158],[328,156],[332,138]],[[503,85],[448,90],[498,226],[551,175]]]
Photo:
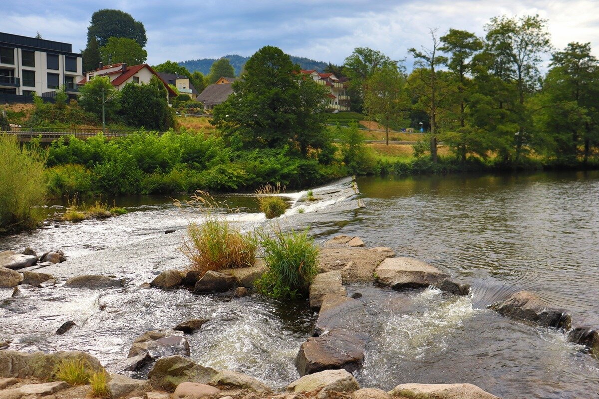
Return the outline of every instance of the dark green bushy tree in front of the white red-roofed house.
[[[128,83],[121,91],[121,114],[129,126],[167,130],[174,127],[174,111],[168,106],[167,89],[156,77],[149,84]]]

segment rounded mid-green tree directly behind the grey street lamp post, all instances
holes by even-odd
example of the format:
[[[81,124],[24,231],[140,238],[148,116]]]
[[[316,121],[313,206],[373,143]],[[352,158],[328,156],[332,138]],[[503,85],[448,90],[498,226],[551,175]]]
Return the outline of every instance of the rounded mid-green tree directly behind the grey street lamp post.
[[[110,78],[96,76],[81,89],[78,97],[79,105],[87,112],[102,117],[102,92],[104,92],[104,114],[107,120],[114,119],[120,109],[119,92],[110,83]]]

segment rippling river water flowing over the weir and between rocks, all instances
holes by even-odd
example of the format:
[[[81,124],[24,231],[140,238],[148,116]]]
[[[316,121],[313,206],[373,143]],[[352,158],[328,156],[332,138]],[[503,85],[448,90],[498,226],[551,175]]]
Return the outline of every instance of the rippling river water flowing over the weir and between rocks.
[[[325,187],[347,187],[342,181]],[[355,198],[295,204],[280,223],[311,226],[317,240],[359,235],[368,246],[428,261],[474,286],[470,297],[438,290],[398,293],[352,285],[365,313],[353,325],[368,337],[362,386],[468,382],[503,398],[597,398],[599,361],[567,343],[564,334],[504,318],[486,305],[517,290],[537,291],[570,309],[576,321],[599,324],[599,173],[519,176],[359,178],[367,207]],[[316,195],[317,191],[314,190]],[[291,194],[289,202],[301,193]],[[228,196],[233,217],[261,226],[247,196]],[[251,295],[223,301],[186,290],[136,290],[159,272],[183,268],[177,247],[193,209],[167,197],[117,200],[129,214],[106,221],[49,226],[0,240],[0,249],[62,248],[71,258],[49,272],[104,274],[127,279],[125,290],[91,292],[58,287],[10,297],[0,290],[0,340],[11,349],[79,349],[109,369],[135,336],[210,318],[188,336],[192,358],[205,366],[242,371],[282,388],[298,377],[294,358],[316,315],[305,303]],[[298,209],[303,208],[304,213]],[[58,209],[60,211],[60,209]],[[164,230],[176,230],[164,234]],[[77,327],[54,335],[60,324]]]

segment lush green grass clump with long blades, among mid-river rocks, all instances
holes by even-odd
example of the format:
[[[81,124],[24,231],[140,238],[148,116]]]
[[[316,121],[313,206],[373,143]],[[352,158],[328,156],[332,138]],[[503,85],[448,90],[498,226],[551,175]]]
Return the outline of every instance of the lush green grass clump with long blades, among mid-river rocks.
[[[273,235],[258,232],[268,271],[256,282],[259,293],[274,298],[305,297],[318,274],[318,247],[314,239],[303,232],[281,232]]]

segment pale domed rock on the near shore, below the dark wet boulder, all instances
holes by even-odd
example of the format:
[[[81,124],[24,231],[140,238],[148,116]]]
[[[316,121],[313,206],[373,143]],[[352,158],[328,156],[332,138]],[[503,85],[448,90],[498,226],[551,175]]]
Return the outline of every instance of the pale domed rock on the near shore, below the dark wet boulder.
[[[287,386],[288,392],[354,392],[358,389],[358,381],[343,369],[308,374]]]

